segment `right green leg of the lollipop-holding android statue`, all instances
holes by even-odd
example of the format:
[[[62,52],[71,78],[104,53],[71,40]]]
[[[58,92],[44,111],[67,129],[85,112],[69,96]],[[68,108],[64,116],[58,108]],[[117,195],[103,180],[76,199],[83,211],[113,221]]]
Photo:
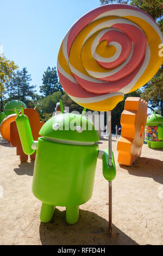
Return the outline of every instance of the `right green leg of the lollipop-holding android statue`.
[[[79,205],[66,206],[66,222],[76,224],[79,218]]]

